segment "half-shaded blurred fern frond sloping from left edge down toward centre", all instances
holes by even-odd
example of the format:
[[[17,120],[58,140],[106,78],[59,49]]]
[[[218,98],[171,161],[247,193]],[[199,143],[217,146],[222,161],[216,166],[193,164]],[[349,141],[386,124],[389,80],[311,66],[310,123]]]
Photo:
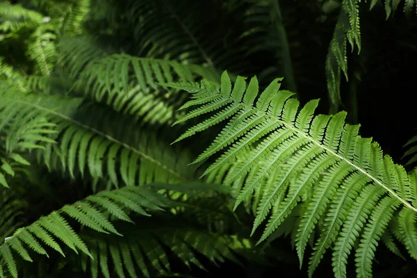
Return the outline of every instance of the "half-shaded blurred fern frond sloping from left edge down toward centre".
[[[54,141],[45,136],[36,135],[33,139],[35,135],[25,130],[29,139],[43,141],[43,144],[33,145],[31,141],[10,139],[13,145],[7,149],[22,144],[24,147],[40,147],[42,150],[37,153],[38,161],[46,163],[49,169],[63,170],[72,177],[88,172],[93,179],[103,179],[115,186],[120,183],[138,185],[154,181],[176,183],[192,179],[193,173],[187,167],[190,161],[186,152],[175,152],[149,131],[134,129],[129,119],[117,116],[106,108],[82,104],[82,99],[22,95],[18,91],[1,95],[0,99],[1,105],[7,108],[5,117],[11,117],[11,112],[16,109],[19,112],[17,116],[22,116],[16,120],[26,120],[28,124],[37,127],[35,131],[40,135],[46,131],[56,133],[54,139],[58,144],[52,143]],[[23,117],[23,111],[33,118]],[[46,113],[47,117],[35,117]],[[40,129],[42,126],[49,129]],[[20,134],[19,129],[16,132]],[[6,134],[13,136],[15,133],[7,131]],[[22,158],[17,154],[11,157]],[[19,160],[17,162],[22,163]]]

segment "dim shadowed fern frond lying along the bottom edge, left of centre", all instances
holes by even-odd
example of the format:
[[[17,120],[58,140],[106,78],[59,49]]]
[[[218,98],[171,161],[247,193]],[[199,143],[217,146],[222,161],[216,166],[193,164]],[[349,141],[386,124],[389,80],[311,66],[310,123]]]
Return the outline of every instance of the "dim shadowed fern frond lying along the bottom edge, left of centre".
[[[85,271],[91,277],[156,277],[179,272],[179,262],[188,268],[195,265],[205,269],[204,262],[199,260],[201,256],[215,264],[226,260],[240,263],[237,254],[245,254],[245,250],[254,247],[247,238],[209,233],[175,218],[140,220],[140,223],[136,229],[124,229],[125,233],[120,229],[123,238],[111,235],[86,238],[92,256],[83,256]],[[259,250],[256,254],[261,255]]]

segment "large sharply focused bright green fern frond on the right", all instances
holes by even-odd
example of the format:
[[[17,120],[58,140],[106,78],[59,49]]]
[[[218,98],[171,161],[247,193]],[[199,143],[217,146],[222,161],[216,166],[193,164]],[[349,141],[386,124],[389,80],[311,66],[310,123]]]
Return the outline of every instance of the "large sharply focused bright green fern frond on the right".
[[[259,241],[268,238],[303,200],[307,208],[295,233],[300,262],[312,231],[318,222],[324,225],[314,243],[310,275],[333,245],[334,272],[336,277],[345,277],[347,256],[362,234],[356,250],[357,269],[369,277],[375,246],[393,211],[401,205],[407,214],[404,222],[414,221],[410,215],[417,211],[415,186],[404,168],[384,156],[376,142],[358,135],[359,126],[345,124],[346,113],[314,116],[317,100],[299,109],[291,92],[279,90],[279,81],[261,93],[256,77],[246,85],[245,78],[238,76],[232,86],[227,72],[222,74],[221,85],[211,88],[204,82],[165,84],[182,86],[193,94],[185,106],[197,108],[178,122],[210,113],[179,139],[227,120],[195,163],[222,151],[204,175],[236,164],[220,171],[223,177],[219,179],[227,184],[243,181],[235,208],[247,199],[259,202],[252,233],[268,218]],[[249,152],[248,158],[237,164],[236,157],[245,152]],[[411,240],[416,234],[407,231]]]

